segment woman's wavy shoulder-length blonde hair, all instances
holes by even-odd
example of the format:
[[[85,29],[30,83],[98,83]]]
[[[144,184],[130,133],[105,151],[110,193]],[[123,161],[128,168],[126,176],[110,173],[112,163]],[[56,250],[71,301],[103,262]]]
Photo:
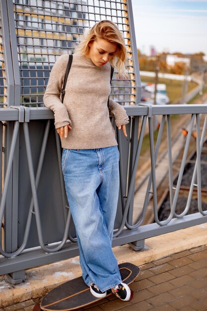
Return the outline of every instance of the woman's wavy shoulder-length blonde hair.
[[[76,46],[75,52],[87,55],[89,52],[89,43],[96,41],[98,38],[105,39],[117,45],[117,50],[110,63],[120,75],[126,76],[127,71],[124,63],[127,57],[127,50],[125,41],[119,28],[111,20],[101,20],[91,27],[87,35]]]

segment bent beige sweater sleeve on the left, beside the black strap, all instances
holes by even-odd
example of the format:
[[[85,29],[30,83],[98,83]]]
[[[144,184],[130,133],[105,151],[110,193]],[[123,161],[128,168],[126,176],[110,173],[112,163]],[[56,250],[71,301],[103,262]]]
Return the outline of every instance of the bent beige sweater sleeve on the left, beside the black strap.
[[[48,85],[43,97],[45,106],[54,112],[56,129],[68,124],[71,125],[67,108],[60,99],[61,88],[63,85],[68,60],[68,55],[62,55],[55,62],[51,70]]]

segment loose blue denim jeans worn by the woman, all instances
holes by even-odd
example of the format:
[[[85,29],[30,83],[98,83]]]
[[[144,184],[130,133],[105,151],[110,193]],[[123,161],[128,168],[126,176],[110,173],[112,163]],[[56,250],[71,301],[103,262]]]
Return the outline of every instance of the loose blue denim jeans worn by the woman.
[[[121,283],[111,247],[119,194],[118,148],[64,149],[62,169],[83,280],[104,292]]]

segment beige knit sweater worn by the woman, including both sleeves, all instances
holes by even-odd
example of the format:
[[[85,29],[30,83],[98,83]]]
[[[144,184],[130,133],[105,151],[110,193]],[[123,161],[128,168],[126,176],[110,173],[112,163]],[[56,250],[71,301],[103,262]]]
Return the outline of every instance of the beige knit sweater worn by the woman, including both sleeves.
[[[66,84],[64,103],[60,92],[68,64],[68,54],[62,55],[53,66],[44,104],[55,114],[55,127],[70,124],[67,138],[61,140],[66,149],[96,149],[116,146],[114,129],[110,115],[115,117],[117,126],[127,124],[129,118],[125,109],[110,99],[111,67],[107,63],[97,67],[85,56],[73,54],[72,65]]]

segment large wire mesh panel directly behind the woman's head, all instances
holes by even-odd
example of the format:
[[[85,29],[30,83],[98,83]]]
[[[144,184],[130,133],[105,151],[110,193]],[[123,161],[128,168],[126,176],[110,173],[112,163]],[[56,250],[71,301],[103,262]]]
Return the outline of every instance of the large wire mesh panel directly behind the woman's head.
[[[126,41],[128,78],[114,74],[112,98],[136,102],[134,61],[126,0],[14,0],[17,53],[21,80],[20,103],[43,106],[43,94],[57,58],[73,53],[83,33],[97,21],[114,21]]]

